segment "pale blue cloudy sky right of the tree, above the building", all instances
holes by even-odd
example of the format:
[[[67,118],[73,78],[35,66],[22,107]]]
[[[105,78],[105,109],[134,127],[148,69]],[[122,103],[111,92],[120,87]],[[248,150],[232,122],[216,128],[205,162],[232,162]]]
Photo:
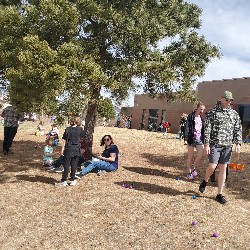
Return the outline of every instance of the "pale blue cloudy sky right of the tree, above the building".
[[[250,77],[250,1],[188,0],[202,9],[199,33],[219,46],[222,58],[213,60],[201,81]],[[131,96],[126,105],[133,106]]]

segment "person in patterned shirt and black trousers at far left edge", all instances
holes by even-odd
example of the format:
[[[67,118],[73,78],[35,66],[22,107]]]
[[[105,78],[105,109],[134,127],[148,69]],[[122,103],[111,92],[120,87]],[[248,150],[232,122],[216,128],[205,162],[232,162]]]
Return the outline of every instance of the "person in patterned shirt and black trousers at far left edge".
[[[12,105],[7,106],[1,115],[4,118],[3,154],[8,155],[19,125],[19,114]]]

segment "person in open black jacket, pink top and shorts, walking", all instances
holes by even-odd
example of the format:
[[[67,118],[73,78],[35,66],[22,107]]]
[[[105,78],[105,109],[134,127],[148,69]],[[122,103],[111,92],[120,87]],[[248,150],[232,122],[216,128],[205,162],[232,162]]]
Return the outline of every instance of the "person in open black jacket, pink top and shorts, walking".
[[[196,168],[198,167],[204,149],[204,117],[202,116],[205,110],[205,105],[201,102],[197,104],[197,108],[188,115],[185,126],[184,141],[188,146],[187,159],[187,178],[193,180],[197,176]],[[196,148],[197,157],[194,160],[194,149]]]

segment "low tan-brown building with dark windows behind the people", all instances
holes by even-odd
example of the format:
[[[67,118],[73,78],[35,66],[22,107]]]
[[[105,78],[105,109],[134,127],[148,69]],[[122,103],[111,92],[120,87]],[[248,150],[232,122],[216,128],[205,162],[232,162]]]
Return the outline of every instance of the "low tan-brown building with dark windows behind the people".
[[[198,84],[196,95],[206,105],[206,111],[214,107],[225,90],[233,93],[232,107],[239,113],[243,125],[243,136],[250,126],[250,77],[205,81]],[[175,101],[168,103],[166,98],[152,99],[148,95],[135,95],[132,113],[132,128],[147,129],[149,124],[158,125],[162,121],[171,123],[173,133],[179,131],[179,121],[183,113],[189,114],[195,104]]]

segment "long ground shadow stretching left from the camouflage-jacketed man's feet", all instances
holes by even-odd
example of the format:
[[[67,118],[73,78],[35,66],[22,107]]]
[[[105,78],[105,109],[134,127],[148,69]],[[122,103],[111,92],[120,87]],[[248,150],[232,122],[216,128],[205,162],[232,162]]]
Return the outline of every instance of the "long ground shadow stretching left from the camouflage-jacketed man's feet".
[[[126,184],[128,188],[133,186],[131,189],[135,189],[138,191],[143,191],[151,194],[165,194],[170,196],[177,196],[177,195],[186,195],[186,196],[193,196],[200,197],[200,194],[194,190],[188,190],[185,192],[181,192],[177,189],[173,189],[170,187],[163,187],[151,183],[145,182],[131,182],[131,181],[123,181],[123,182],[115,182],[116,185],[124,186]]]

